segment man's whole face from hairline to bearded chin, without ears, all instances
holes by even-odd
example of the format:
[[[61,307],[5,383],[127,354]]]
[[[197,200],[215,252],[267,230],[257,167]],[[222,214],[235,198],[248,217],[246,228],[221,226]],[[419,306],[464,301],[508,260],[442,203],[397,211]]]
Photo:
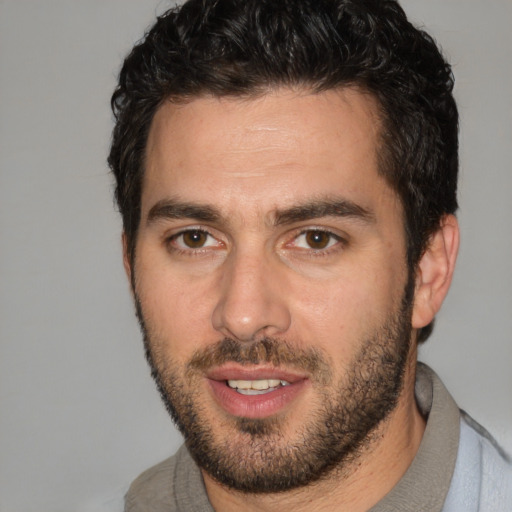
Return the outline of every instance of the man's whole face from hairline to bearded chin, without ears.
[[[200,465],[249,491],[348,463],[399,400],[403,212],[356,90],[166,103],[134,262],[154,376]]]

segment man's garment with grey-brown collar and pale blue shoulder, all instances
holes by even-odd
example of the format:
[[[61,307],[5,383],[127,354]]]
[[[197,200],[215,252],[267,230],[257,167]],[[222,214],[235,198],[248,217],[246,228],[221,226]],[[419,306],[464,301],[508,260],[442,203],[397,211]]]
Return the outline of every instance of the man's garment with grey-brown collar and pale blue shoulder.
[[[415,392],[428,418],[418,453],[369,512],[512,512],[512,463],[494,439],[421,363]],[[125,512],[213,512],[185,446],[132,483]]]

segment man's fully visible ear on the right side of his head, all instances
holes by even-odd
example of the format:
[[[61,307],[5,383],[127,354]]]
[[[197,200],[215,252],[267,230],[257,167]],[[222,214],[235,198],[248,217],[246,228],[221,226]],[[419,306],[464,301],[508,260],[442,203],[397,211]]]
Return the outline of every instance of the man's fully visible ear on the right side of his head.
[[[441,308],[452,282],[458,251],[459,224],[454,215],[446,215],[416,269],[413,328],[428,325]]]

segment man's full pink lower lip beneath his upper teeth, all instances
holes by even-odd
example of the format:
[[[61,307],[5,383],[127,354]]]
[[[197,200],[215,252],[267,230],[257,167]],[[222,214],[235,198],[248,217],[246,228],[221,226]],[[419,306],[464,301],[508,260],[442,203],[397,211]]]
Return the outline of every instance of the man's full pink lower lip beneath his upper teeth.
[[[282,386],[262,395],[242,395],[226,381],[208,379],[216,402],[228,414],[241,418],[267,418],[282,412],[304,390],[306,380]]]

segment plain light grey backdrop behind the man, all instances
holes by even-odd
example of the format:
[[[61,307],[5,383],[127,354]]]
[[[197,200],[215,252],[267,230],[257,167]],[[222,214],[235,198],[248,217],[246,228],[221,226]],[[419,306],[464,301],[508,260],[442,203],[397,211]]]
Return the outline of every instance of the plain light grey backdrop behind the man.
[[[0,510],[115,510],[179,444],[105,164],[122,57],[166,2],[0,0]],[[454,65],[462,249],[420,358],[512,451],[512,2],[404,0]],[[111,498],[113,501],[111,501]]]

